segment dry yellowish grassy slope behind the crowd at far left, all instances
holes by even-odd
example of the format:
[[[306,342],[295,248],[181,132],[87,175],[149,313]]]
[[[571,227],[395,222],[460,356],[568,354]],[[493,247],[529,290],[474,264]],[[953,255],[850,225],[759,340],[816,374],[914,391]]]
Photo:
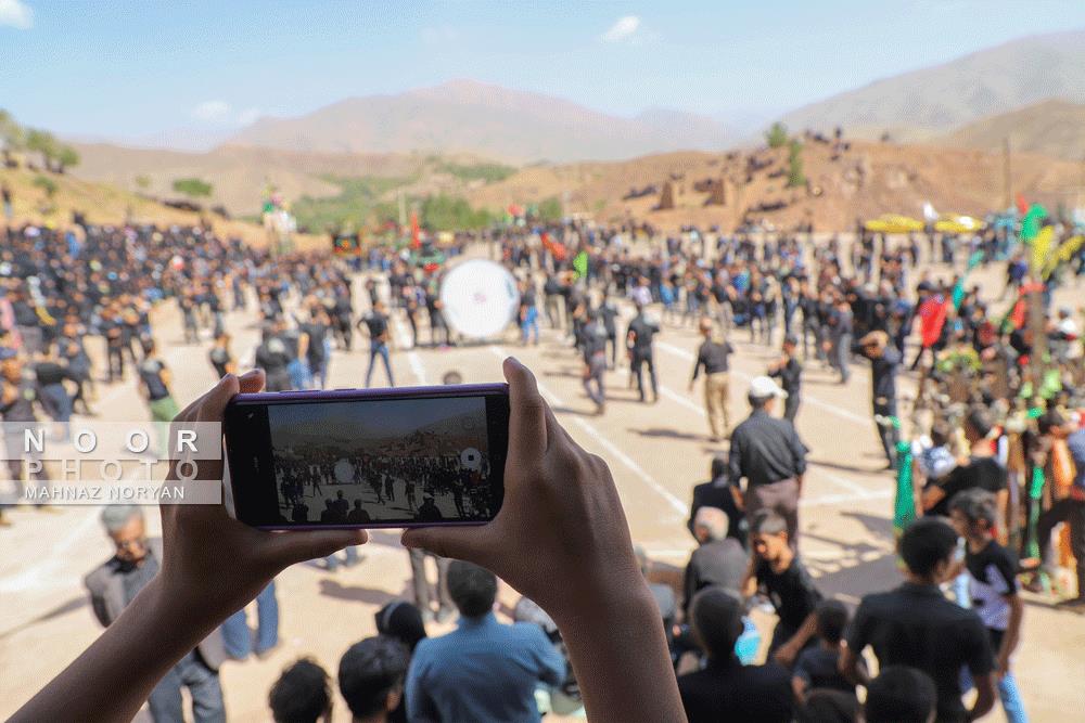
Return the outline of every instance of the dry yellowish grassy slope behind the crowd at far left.
[[[36,184],[46,178],[55,185],[52,198]],[[84,214],[90,223],[120,224],[126,219],[137,223],[195,224],[201,216],[164,206],[143,198],[108,183],[87,181],[71,175],[40,173],[25,168],[0,167],[0,183],[12,191],[15,223],[44,223],[66,225],[72,221],[73,211]],[[205,215],[215,232],[224,236],[237,236],[255,246],[264,246],[267,237],[264,229],[242,221],[226,221],[215,215]],[[323,248],[327,240],[298,234],[295,242],[299,248]]]

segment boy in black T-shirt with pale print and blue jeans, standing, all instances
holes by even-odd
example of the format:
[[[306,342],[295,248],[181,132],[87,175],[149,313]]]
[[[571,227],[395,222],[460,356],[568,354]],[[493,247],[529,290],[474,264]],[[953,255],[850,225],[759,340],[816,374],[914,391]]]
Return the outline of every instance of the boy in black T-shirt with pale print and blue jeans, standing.
[[[995,542],[998,508],[995,495],[979,488],[959,493],[949,503],[949,519],[968,543],[968,572],[972,609],[987,628],[998,672],[998,697],[1006,719],[1026,721],[1024,702],[1010,671],[1010,657],[1021,640],[1024,603],[1017,594],[1017,560]]]

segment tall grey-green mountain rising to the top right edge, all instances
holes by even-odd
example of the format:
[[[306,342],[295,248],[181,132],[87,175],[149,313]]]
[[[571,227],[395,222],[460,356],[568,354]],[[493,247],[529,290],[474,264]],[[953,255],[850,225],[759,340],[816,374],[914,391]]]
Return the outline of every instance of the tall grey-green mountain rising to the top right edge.
[[[783,116],[795,130],[914,141],[1046,99],[1085,103],[1085,30],[1032,36],[833,95]]]

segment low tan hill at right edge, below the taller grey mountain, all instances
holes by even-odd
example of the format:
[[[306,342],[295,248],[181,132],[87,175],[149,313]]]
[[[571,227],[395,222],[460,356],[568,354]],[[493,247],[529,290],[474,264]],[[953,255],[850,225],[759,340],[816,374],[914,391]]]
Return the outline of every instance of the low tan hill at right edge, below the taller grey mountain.
[[[1013,153],[1085,159],[1085,105],[1047,100],[969,124],[937,142],[1001,152],[1007,138]]]

